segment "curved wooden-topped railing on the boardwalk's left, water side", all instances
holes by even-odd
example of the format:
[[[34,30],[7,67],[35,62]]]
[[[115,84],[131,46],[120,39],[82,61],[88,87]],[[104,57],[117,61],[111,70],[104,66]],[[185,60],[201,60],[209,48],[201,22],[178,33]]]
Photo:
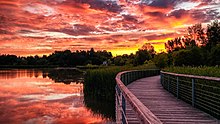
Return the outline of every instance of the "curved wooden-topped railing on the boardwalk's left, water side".
[[[140,123],[161,124],[162,122],[142,103],[137,97],[128,90],[126,85],[143,78],[159,75],[160,70],[145,71],[124,71],[116,76],[116,123],[127,124],[126,102],[128,102],[135,111]]]

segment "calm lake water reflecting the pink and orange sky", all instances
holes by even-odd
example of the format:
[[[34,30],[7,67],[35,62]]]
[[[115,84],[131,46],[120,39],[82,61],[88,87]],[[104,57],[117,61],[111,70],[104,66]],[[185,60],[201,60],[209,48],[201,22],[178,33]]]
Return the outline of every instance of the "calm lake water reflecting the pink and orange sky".
[[[0,124],[109,122],[85,107],[82,83],[59,77],[57,71],[0,70]]]

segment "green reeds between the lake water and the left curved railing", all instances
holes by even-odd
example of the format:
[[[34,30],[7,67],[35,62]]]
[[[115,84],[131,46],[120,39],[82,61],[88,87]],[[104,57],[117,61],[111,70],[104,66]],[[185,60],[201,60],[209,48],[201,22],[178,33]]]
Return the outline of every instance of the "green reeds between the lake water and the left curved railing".
[[[106,68],[99,68],[93,70],[87,70],[84,81],[84,92],[90,93],[100,99],[108,99],[110,96],[114,96],[114,88],[116,85],[116,75],[125,70],[145,70],[156,69],[154,64],[142,65],[142,66],[111,66]],[[91,93],[90,93],[91,94]],[[114,99],[110,99],[114,100]]]

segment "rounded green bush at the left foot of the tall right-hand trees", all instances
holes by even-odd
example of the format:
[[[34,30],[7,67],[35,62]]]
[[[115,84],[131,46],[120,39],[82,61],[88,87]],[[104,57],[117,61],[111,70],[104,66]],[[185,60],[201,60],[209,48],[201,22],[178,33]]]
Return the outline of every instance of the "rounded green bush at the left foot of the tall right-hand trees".
[[[168,54],[160,53],[154,56],[153,59],[155,65],[159,68],[164,68],[168,66]]]

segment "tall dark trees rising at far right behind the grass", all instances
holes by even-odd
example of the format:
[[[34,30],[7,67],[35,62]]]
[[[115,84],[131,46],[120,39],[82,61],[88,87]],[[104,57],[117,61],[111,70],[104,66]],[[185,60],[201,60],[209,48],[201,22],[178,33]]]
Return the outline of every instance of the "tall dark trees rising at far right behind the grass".
[[[215,20],[206,29],[201,24],[188,27],[187,35],[168,40],[165,48],[167,53],[153,59],[161,68],[220,65],[220,22]]]

